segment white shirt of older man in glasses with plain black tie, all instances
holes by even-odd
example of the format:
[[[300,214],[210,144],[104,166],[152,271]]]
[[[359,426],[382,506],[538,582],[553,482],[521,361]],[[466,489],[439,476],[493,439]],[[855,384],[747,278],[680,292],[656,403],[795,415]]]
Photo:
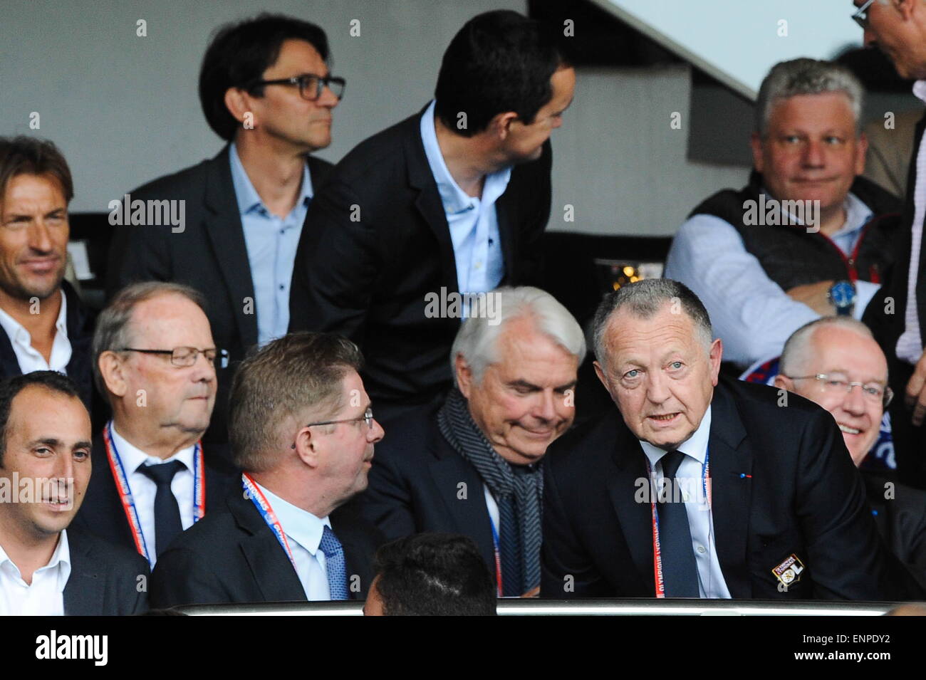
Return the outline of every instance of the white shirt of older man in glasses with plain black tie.
[[[116,445],[119,460],[122,461],[122,467],[125,469],[125,475],[129,480],[129,490],[131,491],[132,500],[135,501],[138,521],[142,525],[144,545],[148,549],[148,562],[154,568],[157,560],[157,546],[155,545],[155,494],[157,485],[154,479],[138,472],[138,468],[142,465],[159,465],[170,461],[180,461],[185,466],[173,476],[170,482],[170,490],[173,492],[174,498],[177,499],[177,505],[180,506],[181,525],[184,529],[188,529],[193,525],[193,454],[196,446],[194,444],[186,449],[181,449],[166,461],[162,461],[156,456],[150,456],[141,451],[127,439],[124,439],[116,430],[115,424],[113,424],[112,433],[113,444]]]

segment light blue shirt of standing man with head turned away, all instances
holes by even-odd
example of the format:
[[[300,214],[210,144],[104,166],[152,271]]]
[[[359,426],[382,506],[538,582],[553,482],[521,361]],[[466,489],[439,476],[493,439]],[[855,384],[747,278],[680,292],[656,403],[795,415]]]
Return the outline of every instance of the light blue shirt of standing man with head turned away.
[[[424,155],[428,157],[428,165],[437,182],[437,191],[441,194],[444,215],[450,227],[450,241],[454,245],[454,259],[457,261],[459,292],[492,291],[505,278],[505,259],[498,236],[495,201],[507,189],[511,168],[506,167],[486,175],[481,198],[469,196],[460,189],[451,177],[437,143],[434,101],[421,116],[421,142],[424,142]]]

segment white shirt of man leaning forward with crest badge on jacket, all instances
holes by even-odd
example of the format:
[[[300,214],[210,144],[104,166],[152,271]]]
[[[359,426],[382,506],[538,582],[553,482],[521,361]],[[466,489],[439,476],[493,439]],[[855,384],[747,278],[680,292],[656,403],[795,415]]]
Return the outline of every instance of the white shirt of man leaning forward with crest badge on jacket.
[[[694,434],[679,446],[685,457],[675,473],[676,479],[692,480],[693,485],[701,488],[701,479],[704,471],[704,462],[707,458],[707,441],[710,437],[710,406],[701,420],[701,425],[694,430]],[[649,461],[650,468],[656,472],[657,488],[662,484],[662,464],[659,463],[668,451],[658,449],[652,444],[641,441],[640,446]],[[658,464],[657,464],[658,463]],[[708,480],[709,482],[709,480]],[[710,485],[708,483],[708,493]],[[704,494],[698,490],[693,493],[689,501],[685,502],[685,511],[688,514],[688,526],[692,532],[692,550],[694,561],[697,563],[698,592],[702,598],[730,598],[730,590],[720,571],[720,560],[717,556],[717,546],[714,543],[714,513],[704,502]]]

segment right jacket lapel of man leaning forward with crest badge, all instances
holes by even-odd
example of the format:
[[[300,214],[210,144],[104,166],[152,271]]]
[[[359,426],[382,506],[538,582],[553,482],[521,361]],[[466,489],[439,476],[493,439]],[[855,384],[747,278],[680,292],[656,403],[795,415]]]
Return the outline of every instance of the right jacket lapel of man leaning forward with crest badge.
[[[720,570],[733,598],[751,598],[746,565],[746,535],[752,496],[752,451],[745,427],[731,395],[722,383],[711,402],[710,456],[711,517]]]

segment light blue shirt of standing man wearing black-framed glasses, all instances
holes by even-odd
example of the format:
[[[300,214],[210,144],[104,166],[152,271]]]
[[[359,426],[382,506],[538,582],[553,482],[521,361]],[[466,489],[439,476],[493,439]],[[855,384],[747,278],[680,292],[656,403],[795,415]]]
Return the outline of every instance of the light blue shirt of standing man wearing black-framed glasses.
[[[270,340],[282,338],[289,328],[290,280],[293,278],[299,234],[302,233],[308,204],[312,200],[312,179],[306,164],[303,167],[299,198],[289,215],[279,217],[273,215],[260,200],[233,143],[229,156],[232,184],[244,229],[244,245],[254,283],[257,342],[264,345]]]

